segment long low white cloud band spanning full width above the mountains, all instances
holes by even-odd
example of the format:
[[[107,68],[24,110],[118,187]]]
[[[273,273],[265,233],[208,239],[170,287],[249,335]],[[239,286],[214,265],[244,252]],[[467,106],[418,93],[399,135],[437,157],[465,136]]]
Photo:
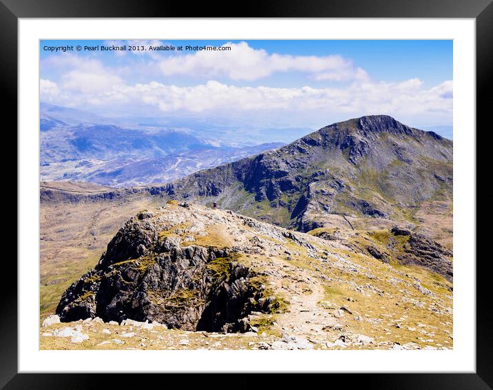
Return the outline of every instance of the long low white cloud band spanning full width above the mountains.
[[[178,87],[151,81],[129,85],[118,77],[99,78],[70,73],[63,77],[63,94],[49,80],[43,80],[45,96],[61,105],[119,110],[141,114],[149,108],[155,114],[211,115],[216,118],[268,119],[283,116],[286,121],[311,121],[337,115],[342,119],[366,114],[389,114],[406,119],[452,117],[452,81],[423,88],[419,79],[401,83],[355,82],[344,88],[238,87],[218,81]],[[70,88],[69,88],[70,87]]]

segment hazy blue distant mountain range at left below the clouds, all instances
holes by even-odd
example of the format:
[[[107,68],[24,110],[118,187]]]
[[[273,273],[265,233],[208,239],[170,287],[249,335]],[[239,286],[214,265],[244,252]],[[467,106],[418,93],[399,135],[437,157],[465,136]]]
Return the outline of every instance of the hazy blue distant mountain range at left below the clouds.
[[[283,143],[228,144],[213,134],[143,126],[41,104],[41,180],[128,187],[173,181]]]

